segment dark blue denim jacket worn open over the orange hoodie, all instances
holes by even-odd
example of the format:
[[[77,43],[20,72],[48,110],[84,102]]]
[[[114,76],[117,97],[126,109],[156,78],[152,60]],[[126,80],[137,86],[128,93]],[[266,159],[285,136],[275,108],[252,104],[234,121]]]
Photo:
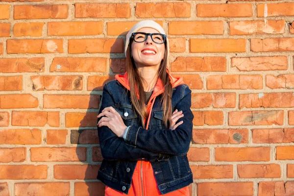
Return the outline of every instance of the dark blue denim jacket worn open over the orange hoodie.
[[[162,194],[193,183],[193,174],[187,159],[194,118],[190,109],[191,90],[187,85],[180,84],[172,91],[172,112],[175,109],[183,111],[184,117],[178,122],[184,123],[174,130],[164,125],[160,94],[154,98],[148,129],[144,129],[141,118],[130,102],[130,92],[117,80],[104,85],[99,113],[105,107],[112,106],[122,116],[124,124],[130,128],[124,141],[107,126],[98,127],[103,161],[97,178],[102,183],[128,194],[138,160],[151,163],[158,189]]]

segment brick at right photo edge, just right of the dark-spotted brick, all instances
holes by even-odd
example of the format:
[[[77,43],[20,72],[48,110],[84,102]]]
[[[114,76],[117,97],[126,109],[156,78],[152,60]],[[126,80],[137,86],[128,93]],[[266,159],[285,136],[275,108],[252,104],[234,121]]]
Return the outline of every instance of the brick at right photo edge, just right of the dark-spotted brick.
[[[294,142],[294,128],[252,129],[252,143],[274,144]]]

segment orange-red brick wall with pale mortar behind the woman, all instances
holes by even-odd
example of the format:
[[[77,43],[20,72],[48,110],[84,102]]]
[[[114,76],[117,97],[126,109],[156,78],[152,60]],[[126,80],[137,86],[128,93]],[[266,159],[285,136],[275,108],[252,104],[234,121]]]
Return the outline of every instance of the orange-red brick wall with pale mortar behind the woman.
[[[0,196],[104,195],[101,89],[144,19],[193,92],[191,196],[293,196],[294,3],[104,2],[0,0]]]

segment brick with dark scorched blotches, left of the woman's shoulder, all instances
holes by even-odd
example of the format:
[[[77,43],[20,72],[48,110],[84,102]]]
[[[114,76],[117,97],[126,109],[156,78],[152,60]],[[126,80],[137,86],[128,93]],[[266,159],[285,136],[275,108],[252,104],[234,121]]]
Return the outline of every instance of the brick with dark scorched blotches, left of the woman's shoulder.
[[[83,90],[82,75],[42,75],[30,76],[34,91],[44,90]]]

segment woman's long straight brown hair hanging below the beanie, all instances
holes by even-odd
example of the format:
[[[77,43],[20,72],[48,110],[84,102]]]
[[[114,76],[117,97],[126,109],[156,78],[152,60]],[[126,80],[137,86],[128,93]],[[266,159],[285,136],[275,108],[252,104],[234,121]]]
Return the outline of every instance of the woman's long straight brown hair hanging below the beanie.
[[[144,119],[147,119],[148,112],[145,106],[145,95],[144,95],[144,87],[143,81],[144,78],[138,72],[138,69],[135,65],[133,57],[131,57],[130,51],[132,50],[132,42],[133,39],[130,39],[129,45],[126,50],[126,71],[128,74],[129,86],[130,86],[130,94],[131,94],[131,102],[137,111],[137,113],[141,117],[141,121],[143,127],[145,128]],[[161,104],[163,108],[163,123],[168,128],[169,124],[169,117],[172,116],[172,83],[167,73],[167,45],[165,44],[165,52],[164,58],[161,61],[160,67],[158,69],[157,75],[161,79],[162,83],[164,84],[164,92],[161,98]],[[137,87],[137,89],[136,89]],[[139,99],[136,95],[136,92],[139,94]]]

